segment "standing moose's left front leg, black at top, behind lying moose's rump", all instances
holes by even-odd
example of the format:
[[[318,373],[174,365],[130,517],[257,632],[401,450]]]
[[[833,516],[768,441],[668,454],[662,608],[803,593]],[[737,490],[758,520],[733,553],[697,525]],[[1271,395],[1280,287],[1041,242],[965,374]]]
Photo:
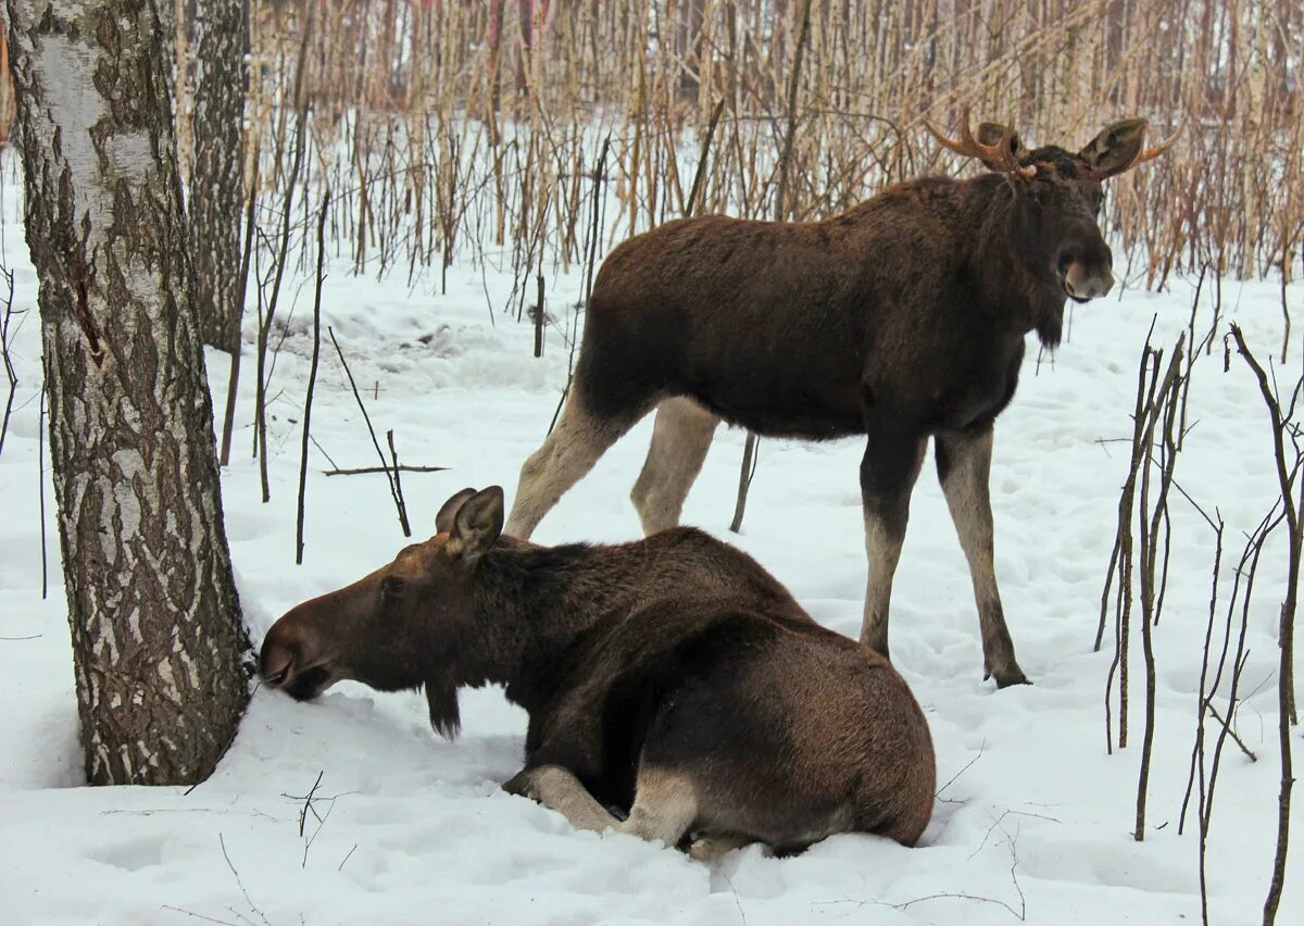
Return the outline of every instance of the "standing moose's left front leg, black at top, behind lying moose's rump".
[[[927,438],[883,425],[871,425],[867,430],[868,443],[861,462],[861,498],[870,569],[861,643],[887,656],[892,576],[901,558],[901,544],[910,519],[910,490],[919,476]]]

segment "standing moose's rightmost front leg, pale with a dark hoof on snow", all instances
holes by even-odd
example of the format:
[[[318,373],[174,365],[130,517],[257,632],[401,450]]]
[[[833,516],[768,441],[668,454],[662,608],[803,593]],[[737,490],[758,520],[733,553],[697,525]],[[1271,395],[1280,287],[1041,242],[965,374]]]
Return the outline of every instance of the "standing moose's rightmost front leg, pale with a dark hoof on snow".
[[[977,432],[938,434],[938,479],[956,523],[960,546],[969,561],[978,623],[982,630],[985,677],[995,677],[999,687],[1024,685],[1028,678],[1015,660],[1015,643],[1000,606],[994,562],[991,519],[991,425]]]

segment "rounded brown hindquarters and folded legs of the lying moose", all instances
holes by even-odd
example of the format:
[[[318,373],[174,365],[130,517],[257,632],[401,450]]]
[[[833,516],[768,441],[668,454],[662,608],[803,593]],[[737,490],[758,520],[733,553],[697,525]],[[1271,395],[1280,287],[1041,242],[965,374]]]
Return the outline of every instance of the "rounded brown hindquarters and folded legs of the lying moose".
[[[913,845],[927,826],[932,745],[905,682],[805,614],[666,597],[588,643],[582,661],[601,668],[531,724],[507,790],[578,828],[691,837],[700,858],[845,831]],[[601,724],[597,755],[574,734],[585,716]]]

